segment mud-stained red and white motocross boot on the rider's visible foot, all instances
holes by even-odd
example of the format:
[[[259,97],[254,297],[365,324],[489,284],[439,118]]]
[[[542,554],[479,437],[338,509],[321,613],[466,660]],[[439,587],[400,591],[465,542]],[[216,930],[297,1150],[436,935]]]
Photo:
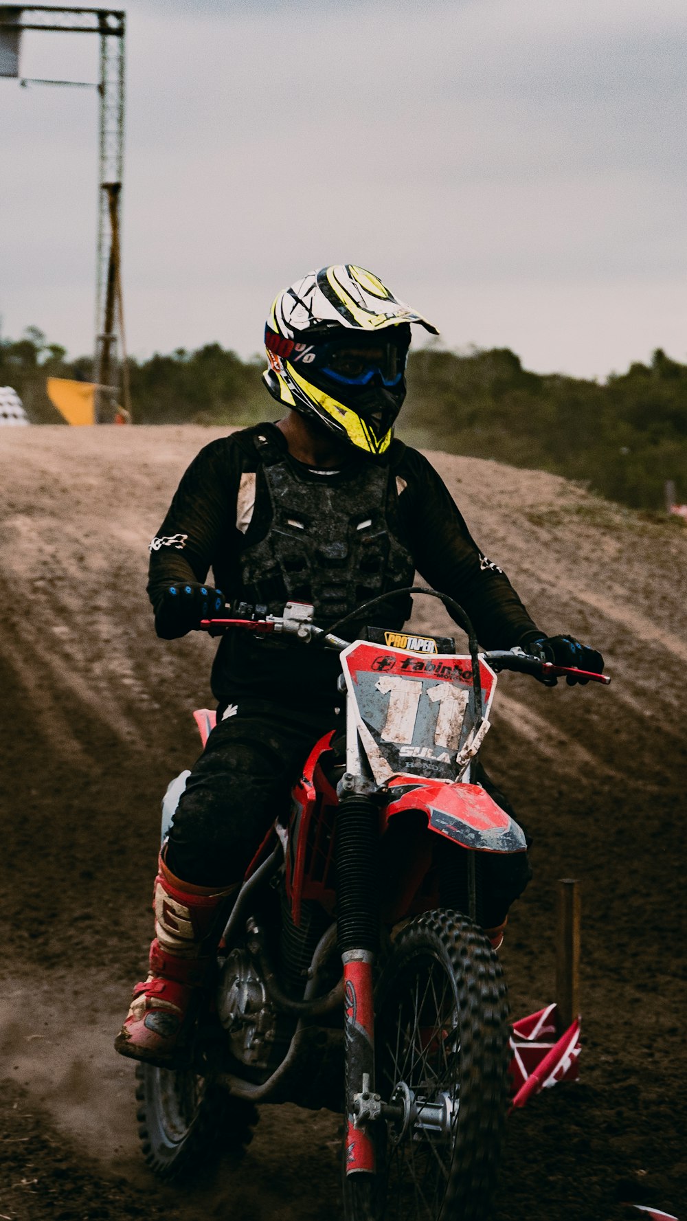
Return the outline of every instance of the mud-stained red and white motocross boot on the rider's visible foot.
[[[194,886],[170,872],[162,855],[153,891],[155,940],[150,973],[135,985],[115,1050],[159,1068],[179,1067],[212,962],[207,944],[220,905],[237,890]],[[207,952],[210,950],[210,952]]]

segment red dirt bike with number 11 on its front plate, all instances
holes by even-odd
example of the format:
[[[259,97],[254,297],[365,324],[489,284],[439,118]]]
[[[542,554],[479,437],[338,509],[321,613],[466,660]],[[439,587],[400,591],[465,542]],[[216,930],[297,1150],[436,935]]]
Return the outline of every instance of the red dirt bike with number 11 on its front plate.
[[[521,650],[369,628],[312,608],[205,620],[340,652],[345,733],[322,737],[250,863],[189,1068],[139,1065],[143,1150],[162,1178],[240,1150],[256,1103],[344,1116],[345,1221],[489,1215],[509,1098],[509,1007],[481,927],[487,853],[525,835],[471,783],[497,673],[581,674]],[[608,683],[599,674],[587,678]],[[206,737],[214,714],[196,713]],[[167,791],[168,824],[185,775]]]

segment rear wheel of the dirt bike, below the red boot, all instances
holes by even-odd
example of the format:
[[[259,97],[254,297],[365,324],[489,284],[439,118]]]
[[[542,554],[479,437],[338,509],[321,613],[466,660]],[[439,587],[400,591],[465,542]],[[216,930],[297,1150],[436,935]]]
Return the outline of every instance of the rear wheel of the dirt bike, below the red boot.
[[[257,1111],[190,1068],[137,1065],[138,1132],[143,1155],[166,1181],[190,1178],[221,1153],[242,1153]]]

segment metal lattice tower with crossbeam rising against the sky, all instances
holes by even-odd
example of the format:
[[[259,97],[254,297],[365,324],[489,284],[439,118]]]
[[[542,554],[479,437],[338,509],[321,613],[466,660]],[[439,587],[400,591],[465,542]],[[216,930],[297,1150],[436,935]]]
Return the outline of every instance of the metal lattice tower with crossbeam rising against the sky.
[[[98,34],[100,96],[98,164],[98,243],[95,270],[95,344],[93,380],[104,387],[98,394],[95,418],[107,418],[103,396],[116,392],[123,380],[124,407],[129,409],[126,366],[124,319],[120,274],[120,233],[124,149],[124,32],[126,15],[115,9],[54,9],[49,5],[0,5],[0,35],[18,39],[23,31],[43,29],[71,34]],[[18,74],[9,73],[9,74]],[[22,81],[22,84],[77,85],[74,81]]]

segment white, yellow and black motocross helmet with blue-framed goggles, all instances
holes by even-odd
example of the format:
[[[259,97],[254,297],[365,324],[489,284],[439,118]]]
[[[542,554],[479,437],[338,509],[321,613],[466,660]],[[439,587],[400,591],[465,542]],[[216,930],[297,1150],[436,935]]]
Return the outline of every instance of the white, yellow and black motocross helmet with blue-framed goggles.
[[[371,271],[350,263],[311,271],[270,310],[267,389],[358,449],[382,454],[405,398],[411,322],[438,333]]]

